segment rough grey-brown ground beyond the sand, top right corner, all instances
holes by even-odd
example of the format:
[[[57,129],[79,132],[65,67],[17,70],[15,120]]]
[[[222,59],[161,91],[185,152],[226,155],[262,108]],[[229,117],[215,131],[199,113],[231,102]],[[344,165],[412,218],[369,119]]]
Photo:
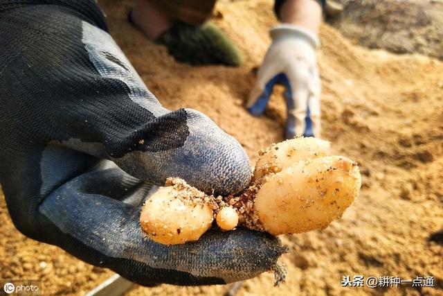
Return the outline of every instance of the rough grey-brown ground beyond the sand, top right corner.
[[[443,59],[442,0],[338,1],[344,9],[333,24],[353,42]]]

